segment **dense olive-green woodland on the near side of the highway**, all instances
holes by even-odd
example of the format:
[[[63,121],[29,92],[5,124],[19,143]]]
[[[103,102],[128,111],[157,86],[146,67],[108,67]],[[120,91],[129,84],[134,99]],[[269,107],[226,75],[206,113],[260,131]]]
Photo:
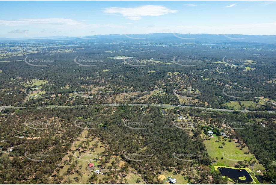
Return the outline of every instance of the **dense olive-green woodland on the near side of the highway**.
[[[103,112],[103,110],[105,111]],[[160,182],[154,177],[164,170],[177,169],[177,173],[181,173],[189,166],[197,166],[199,170],[197,177],[193,176],[193,173],[190,174],[196,183],[224,184],[225,179],[221,178],[218,172],[210,172],[206,168],[212,161],[200,136],[200,128],[195,128],[191,135],[188,131],[174,127],[172,124],[173,112],[174,110],[171,110],[168,115],[163,115],[159,107],[123,105],[115,108],[103,106],[57,109],[25,108],[16,112],[13,110],[3,112],[0,130],[1,138],[4,141],[1,142],[1,147],[3,150],[13,147],[13,151],[9,153],[9,156],[0,157],[1,183],[50,183],[49,177],[55,170],[66,164],[66,162],[63,164],[63,157],[72,152],[70,146],[82,132],[81,128],[74,126],[74,120],[81,118],[104,125],[105,128],[89,130],[88,137],[99,137],[106,146],[103,155],[106,157],[120,156],[137,170],[147,183],[159,184]],[[26,124],[26,120],[28,124]],[[152,124],[149,124],[144,130],[136,130],[126,127],[123,120]],[[41,123],[33,126],[36,129],[26,126],[35,122]],[[89,127],[90,125],[88,125]],[[144,125],[134,125],[133,127],[145,128]],[[24,156],[26,152],[32,159],[43,161],[29,160]],[[150,156],[150,158],[146,161],[134,162],[126,159],[124,152],[139,153],[143,156]],[[180,155],[182,159],[193,161],[177,160],[173,156],[174,153],[182,154]],[[75,172],[77,172],[76,169]],[[112,174],[110,175],[112,176]],[[209,179],[210,175],[213,177],[212,181]],[[110,184],[111,181],[112,178],[102,183]],[[61,182],[62,178],[56,181],[56,183]]]

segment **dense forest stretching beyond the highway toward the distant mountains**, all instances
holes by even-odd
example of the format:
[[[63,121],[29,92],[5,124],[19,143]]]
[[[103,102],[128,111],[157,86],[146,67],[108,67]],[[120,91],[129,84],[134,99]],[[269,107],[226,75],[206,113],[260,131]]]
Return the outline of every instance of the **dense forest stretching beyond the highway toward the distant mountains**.
[[[65,41],[64,41],[65,42]],[[16,47],[14,43],[13,47]],[[39,46],[42,43],[37,43]],[[65,46],[52,48],[51,51],[68,49]],[[95,45],[94,43],[78,43],[79,46],[70,46],[73,52],[49,54],[47,49],[55,44],[48,43],[40,52],[28,55],[27,60],[41,59],[51,62],[36,62],[36,65],[48,66],[35,67],[24,62],[26,56],[8,58],[13,62],[0,63],[1,69],[1,106],[44,106],[44,105],[81,105],[81,104],[106,104],[106,103],[147,103],[147,104],[182,104],[188,106],[201,106],[211,108],[234,109],[229,104],[231,101],[239,102],[240,110],[275,110],[275,60],[271,50],[257,48],[244,49],[241,43],[229,44],[229,48],[220,44],[212,45],[183,45],[182,47],[156,45],[139,45],[117,43]],[[76,44],[76,45],[78,45]],[[5,44],[3,44],[4,46]],[[11,47],[11,48],[13,48]],[[18,47],[18,46],[17,46]],[[233,49],[234,48],[234,49]],[[256,54],[260,53],[260,54]],[[124,63],[123,59],[116,56],[133,57],[130,62],[147,66],[136,67]],[[84,67],[76,64],[74,58],[82,61]],[[182,64],[198,64],[192,67],[183,67],[173,62],[174,57]],[[216,63],[227,56],[234,63]],[[77,59],[77,60],[78,60]],[[7,60],[0,59],[0,60]],[[19,61],[18,61],[19,60]],[[90,61],[90,62],[89,62]],[[158,61],[156,63],[155,61]],[[183,62],[184,61],[184,62]],[[194,62],[195,61],[195,62]],[[227,61],[227,59],[225,59]],[[248,62],[246,65],[245,61]],[[246,69],[249,67],[250,69]],[[25,83],[33,79],[44,79],[47,83],[40,87],[45,92],[37,98],[29,98],[24,102],[26,94]],[[228,86],[227,86],[228,85]],[[16,87],[14,89],[14,87]],[[231,96],[225,95],[226,91],[238,93]],[[35,87],[28,86],[28,91]],[[101,94],[93,94],[92,98],[66,101],[74,90],[91,92],[91,89],[101,88]],[[161,95],[151,95],[147,98],[130,98],[118,100],[116,95],[123,90],[153,91],[165,89]],[[188,98],[187,101],[178,101],[173,89],[192,88],[200,93],[197,97]],[[240,94],[239,92],[244,92]],[[249,93],[246,93],[249,92]],[[64,97],[57,97],[62,94]],[[56,96],[53,98],[52,96]],[[188,95],[186,95],[188,96]],[[50,97],[50,98],[49,98]],[[259,97],[268,98],[260,101]],[[273,101],[269,101],[273,100]],[[241,102],[242,101],[242,102]],[[243,101],[251,101],[251,105],[244,105]],[[44,102],[44,103],[42,103]]]

